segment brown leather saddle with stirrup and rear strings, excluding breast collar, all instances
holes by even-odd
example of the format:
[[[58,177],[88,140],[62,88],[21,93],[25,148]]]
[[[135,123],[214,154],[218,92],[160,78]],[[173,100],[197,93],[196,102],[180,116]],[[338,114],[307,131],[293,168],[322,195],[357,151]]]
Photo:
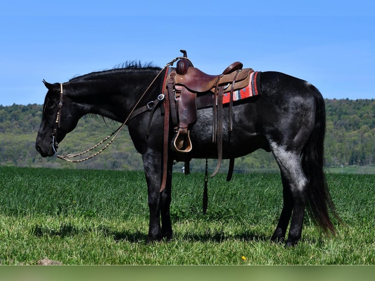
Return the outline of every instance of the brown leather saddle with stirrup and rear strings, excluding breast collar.
[[[171,116],[175,135],[172,139],[171,149],[179,153],[188,153],[192,150],[189,135],[189,125],[197,118],[197,95],[211,93],[213,108],[212,141],[217,144],[218,164],[214,176],[220,168],[222,161],[222,120],[223,120],[223,94],[230,93],[229,104],[229,131],[232,130],[233,92],[249,85],[250,74],[253,69],[242,69],[240,62],[228,66],[222,74],[209,75],[195,67],[187,58],[178,60],[175,71],[168,77],[166,90],[171,100]],[[175,100],[175,105],[172,100]]]

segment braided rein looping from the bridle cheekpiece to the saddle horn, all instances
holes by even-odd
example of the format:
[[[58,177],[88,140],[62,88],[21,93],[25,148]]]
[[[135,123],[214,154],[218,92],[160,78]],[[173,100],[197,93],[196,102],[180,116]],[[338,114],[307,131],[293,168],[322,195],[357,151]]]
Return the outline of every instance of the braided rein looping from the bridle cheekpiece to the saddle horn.
[[[57,130],[60,128],[60,122],[61,122],[61,108],[63,106],[63,84],[60,83],[60,102],[59,102],[59,109],[58,109],[58,112],[57,112],[57,117],[56,117],[56,121],[55,121],[55,127],[53,129],[53,133],[52,133],[52,148],[53,148],[53,151],[55,152],[55,156],[61,160],[64,160],[66,162],[71,162],[71,163],[79,163],[79,162],[83,162],[83,161],[86,161],[86,160],[89,160],[89,159],[92,159],[94,158],[95,156],[97,156],[99,153],[101,153],[104,149],[106,149],[115,139],[116,137],[118,136],[119,132],[123,129],[123,127],[126,125],[126,123],[128,122],[129,118],[132,116],[133,112],[135,111],[136,107],[139,105],[139,103],[141,102],[142,98],[144,97],[144,95],[148,92],[148,90],[151,88],[151,86],[155,83],[156,79],[159,77],[159,75],[165,70],[165,68],[169,67],[169,66],[172,66],[174,62],[176,62],[177,60],[181,59],[181,58],[185,58],[185,57],[176,57],[175,59],[173,59],[172,61],[170,61],[169,63],[167,63],[164,68],[162,70],[159,71],[159,73],[155,76],[154,80],[152,80],[151,84],[147,87],[147,89],[143,92],[143,94],[141,95],[141,97],[139,98],[139,100],[135,103],[135,105],[132,107],[132,110],[130,111],[130,113],[128,114],[128,117],[125,119],[125,121],[121,124],[121,126],[119,126],[117,128],[117,130],[115,130],[112,134],[110,134],[108,137],[106,137],[105,139],[103,139],[103,141],[100,141],[98,142],[97,144],[95,144],[93,147],[85,150],[85,151],[82,151],[80,153],[77,153],[77,154],[67,154],[67,155],[60,155],[60,154],[57,154],[57,151],[55,149],[55,145],[56,147],[58,147],[58,143],[55,142],[55,136],[56,136],[56,133],[57,133]],[[107,141],[109,138],[111,138],[113,135],[115,135],[107,144],[105,144],[105,146],[100,149],[99,151],[97,151],[96,153],[90,155],[89,157],[86,157],[86,158],[83,158],[83,159],[79,159],[79,160],[70,160],[70,158],[75,158],[75,157],[78,157],[78,156],[81,156],[87,152],[90,152],[91,150],[93,150],[94,148],[98,147],[99,145],[101,145],[103,142]]]

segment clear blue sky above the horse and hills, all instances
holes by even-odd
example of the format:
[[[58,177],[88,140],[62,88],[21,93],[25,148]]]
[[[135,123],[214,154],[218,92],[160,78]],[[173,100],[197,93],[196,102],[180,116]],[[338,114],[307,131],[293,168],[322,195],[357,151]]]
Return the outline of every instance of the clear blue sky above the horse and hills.
[[[163,67],[188,51],[221,73],[234,61],[314,84],[325,98],[375,98],[375,2],[6,1],[0,105],[43,104],[65,82],[129,60]]]

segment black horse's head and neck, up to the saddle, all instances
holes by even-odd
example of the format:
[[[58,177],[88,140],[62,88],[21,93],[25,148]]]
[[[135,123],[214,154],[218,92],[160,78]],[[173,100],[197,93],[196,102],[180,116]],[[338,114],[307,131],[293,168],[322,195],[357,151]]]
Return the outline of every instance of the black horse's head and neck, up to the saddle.
[[[124,122],[131,106],[136,104],[139,92],[146,90],[158,72],[159,68],[129,65],[77,76],[63,84],[43,81],[48,92],[36,150],[43,157],[56,154],[58,143],[75,128],[81,117],[89,113]],[[144,96],[145,101],[156,98],[160,89],[156,84]]]

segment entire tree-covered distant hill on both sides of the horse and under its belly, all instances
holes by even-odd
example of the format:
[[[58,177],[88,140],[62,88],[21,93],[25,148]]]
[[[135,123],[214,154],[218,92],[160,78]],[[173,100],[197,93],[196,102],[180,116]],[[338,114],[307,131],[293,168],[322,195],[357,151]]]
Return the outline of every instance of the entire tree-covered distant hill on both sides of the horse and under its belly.
[[[375,99],[326,99],[328,166],[375,164]],[[134,149],[127,129],[103,153],[89,161],[71,164],[56,158],[42,158],[35,150],[35,139],[42,116],[42,105],[0,106],[0,165],[28,167],[69,167],[86,169],[143,169],[141,155]],[[113,132],[119,124],[101,117],[83,117],[76,129],[60,144],[59,153],[75,153],[92,147]],[[182,163],[175,165],[180,170]],[[222,165],[226,171],[227,162]],[[215,167],[210,160],[209,167]],[[191,162],[192,171],[204,169],[203,160]],[[236,172],[277,170],[271,153],[258,150],[235,161]]]

